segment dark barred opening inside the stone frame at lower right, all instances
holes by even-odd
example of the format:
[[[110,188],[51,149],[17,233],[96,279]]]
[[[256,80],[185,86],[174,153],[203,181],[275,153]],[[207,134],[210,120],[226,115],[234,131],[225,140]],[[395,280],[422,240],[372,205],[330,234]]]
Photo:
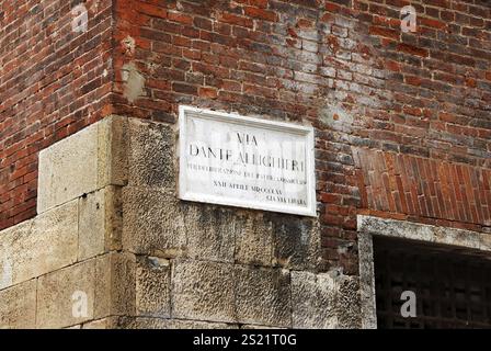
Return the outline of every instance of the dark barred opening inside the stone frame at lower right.
[[[482,251],[374,237],[374,263],[378,328],[491,328]],[[415,317],[401,316],[404,291],[415,294]]]

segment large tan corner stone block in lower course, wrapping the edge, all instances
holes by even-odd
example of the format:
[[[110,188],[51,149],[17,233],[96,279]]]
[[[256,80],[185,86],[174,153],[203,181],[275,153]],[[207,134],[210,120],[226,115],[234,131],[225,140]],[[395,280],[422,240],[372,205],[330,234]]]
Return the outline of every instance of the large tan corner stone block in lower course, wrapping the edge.
[[[84,309],[78,309],[87,301]],[[75,312],[75,313],[73,313]],[[135,258],[111,252],[43,275],[37,283],[37,327],[64,328],[135,314]]]

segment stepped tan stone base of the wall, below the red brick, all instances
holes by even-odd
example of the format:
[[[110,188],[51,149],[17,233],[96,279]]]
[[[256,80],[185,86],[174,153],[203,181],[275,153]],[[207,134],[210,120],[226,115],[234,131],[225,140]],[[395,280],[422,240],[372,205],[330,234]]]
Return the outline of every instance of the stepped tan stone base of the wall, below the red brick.
[[[316,218],[176,199],[176,131],[111,116],[43,150],[0,233],[2,328],[356,328]]]

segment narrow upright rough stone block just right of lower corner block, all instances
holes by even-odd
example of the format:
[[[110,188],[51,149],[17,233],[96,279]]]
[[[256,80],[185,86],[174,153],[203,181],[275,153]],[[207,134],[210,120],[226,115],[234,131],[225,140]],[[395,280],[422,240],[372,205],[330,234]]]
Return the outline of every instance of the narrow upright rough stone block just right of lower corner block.
[[[136,314],[170,318],[171,268],[169,260],[144,257],[136,268]]]

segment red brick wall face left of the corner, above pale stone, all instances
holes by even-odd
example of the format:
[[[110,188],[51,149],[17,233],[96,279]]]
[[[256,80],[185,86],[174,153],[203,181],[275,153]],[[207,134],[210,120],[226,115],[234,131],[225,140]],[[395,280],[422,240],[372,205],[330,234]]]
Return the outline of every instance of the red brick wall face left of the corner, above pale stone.
[[[37,154],[98,121],[112,81],[112,1],[0,1],[0,229],[36,214]]]

